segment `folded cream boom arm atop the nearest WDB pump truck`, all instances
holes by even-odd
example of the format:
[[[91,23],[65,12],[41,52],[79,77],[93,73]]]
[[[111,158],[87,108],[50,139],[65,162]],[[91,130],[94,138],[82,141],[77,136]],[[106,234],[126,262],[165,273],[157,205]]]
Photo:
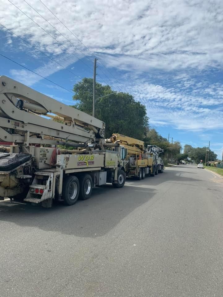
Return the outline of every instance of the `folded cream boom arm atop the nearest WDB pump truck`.
[[[55,117],[61,123],[49,119]],[[27,146],[29,143],[94,146],[96,139],[104,137],[104,129],[105,123],[97,118],[0,76],[1,141]]]

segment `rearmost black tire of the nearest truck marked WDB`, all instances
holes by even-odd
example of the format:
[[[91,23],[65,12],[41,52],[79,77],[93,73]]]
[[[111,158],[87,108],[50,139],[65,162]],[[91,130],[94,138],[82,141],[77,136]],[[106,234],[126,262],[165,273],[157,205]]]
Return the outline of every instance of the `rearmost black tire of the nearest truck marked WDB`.
[[[64,179],[62,199],[65,205],[73,205],[77,202],[80,191],[80,184],[77,176],[70,175]]]

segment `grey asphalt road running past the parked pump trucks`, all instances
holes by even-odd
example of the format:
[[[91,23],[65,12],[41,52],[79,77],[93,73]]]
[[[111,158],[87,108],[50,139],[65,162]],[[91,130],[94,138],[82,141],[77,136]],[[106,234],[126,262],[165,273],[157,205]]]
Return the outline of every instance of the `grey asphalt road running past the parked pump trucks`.
[[[1,297],[223,295],[223,179],[168,168],[90,200],[0,202]]]

